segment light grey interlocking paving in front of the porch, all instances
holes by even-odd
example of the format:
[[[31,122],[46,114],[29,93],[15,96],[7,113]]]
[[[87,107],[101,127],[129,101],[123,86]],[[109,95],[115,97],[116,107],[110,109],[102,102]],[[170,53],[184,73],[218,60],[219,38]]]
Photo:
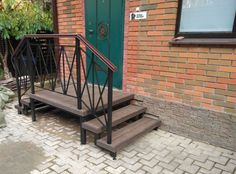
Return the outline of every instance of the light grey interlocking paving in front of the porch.
[[[236,174],[236,152],[161,130],[152,131],[122,149],[113,161],[107,152],[93,144],[92,135],[88,135],[87,145],[80,145],[78,119],[50,110],[37,112],[38,120],[32,123],[29,116],[18,115],[13,106],[5,110],[8,126],[0,130],[0,155],[1,145],[7,144],[28,143],[41,149],[43,157],[28,173]],[[32,148],[25,146],[20,151],[31,154]],[[4,171],[9,165],[3,161],[0,158],[0,173],[8,174]],[[13,157],[8,159],[8,164],[12,164],[15,174],[21,174],[19,166],[30,161],[34,159]]]

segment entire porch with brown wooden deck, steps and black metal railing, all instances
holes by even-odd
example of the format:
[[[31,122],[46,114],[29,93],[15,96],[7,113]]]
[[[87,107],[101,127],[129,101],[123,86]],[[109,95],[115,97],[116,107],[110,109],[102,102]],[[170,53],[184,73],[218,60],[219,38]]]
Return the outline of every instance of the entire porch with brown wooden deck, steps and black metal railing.
[[[81,144],[86,132],[92,132],[94,143],[114,159],[120,149],[161,124],[145,107],[132,104],[133,94],[113,90],[117,67],[82,35],[27,35],[12,62],[19,113],[30,110],[32,121],[41,107],[72,113],[80,119]]]

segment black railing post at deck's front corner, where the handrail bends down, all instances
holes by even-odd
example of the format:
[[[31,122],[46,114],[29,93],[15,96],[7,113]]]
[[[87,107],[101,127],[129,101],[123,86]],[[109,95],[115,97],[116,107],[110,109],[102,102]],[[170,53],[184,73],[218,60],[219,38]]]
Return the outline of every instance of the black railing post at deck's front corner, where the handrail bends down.
[[[82,109],[81,96],[81,67],[80,67],[80,40],[75,38],[75,53],[76,53],[76,76],[77,76],[77,108]]]

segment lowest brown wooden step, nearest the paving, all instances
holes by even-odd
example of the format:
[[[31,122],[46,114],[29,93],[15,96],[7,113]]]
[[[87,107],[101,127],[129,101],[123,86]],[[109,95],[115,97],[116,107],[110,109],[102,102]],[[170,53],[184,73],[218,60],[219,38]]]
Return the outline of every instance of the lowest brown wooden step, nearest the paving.
[[[107,144],[107,137],[97,140],[97,146],[116,153],[132,142],[135,138],[147,133],[161,125],[161,121],[149,117],[143,117],[117,131],[112,132],[112,144]]]

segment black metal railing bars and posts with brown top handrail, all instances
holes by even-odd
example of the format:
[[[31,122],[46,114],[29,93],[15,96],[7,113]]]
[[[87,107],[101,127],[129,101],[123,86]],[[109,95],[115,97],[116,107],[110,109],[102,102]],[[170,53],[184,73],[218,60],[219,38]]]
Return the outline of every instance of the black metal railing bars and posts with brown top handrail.
[[[76,81],[77,81],[77,88],[76,88],[76,97],[77,97],[77,108],[78,109],[82,109],[82,103],[85,104],[82,101],[82,96],[84,93],[85,88],[88,88],[88,84],[87,84],[87,80],[88,80],[88,74],[89,71],[95,71],[95,66],[99,66],[98,64],[96,64],[96,61],[94,59],[98,59],[99,61],[101,61],[107,68],[107,80],[104,83],[104,86],[102,88],[100,88],[99,86],[99,82],[98,82],[98,78],[96,78],[98,86],[99,86],[99,99],[97,101],[97,103],[95,103],[95,98],[94,98],[94,76],[97,72],[92,72],[92,76],[93,76],[93,82],[92,82],[92,94],[90,96],[89,91],[88,91],[88,96],[89,96],[89,100],[90,100],[90,105],[91,105],[91,113],[94,114],[94,116],[99,120],[99,118],[96,116],[96,110],[98,108],[99,103],[102,103],[102,107],[103,107],[103,111],[104,111],[104,117],[105,117],[105,122],[106,122],[106,129],[107,129],[107,143],[111,144],[112,143],[112,98],[113,98],[113,92],[112,92],[112,88],[113,88],[113,73],[115,71],[117,71],[117,67],[107,58],[105,57],[100,51],[98,51],[86,38],[84,38],[82,35],[80,34],[30,34],[30,35],[26,35],[18,44],[17,48],[15,49],[13,55],[12,55],[12,62],[15,63],[15,68],[17,69],[17,61],[20,61],[20,59],[18,60],[17,57],[19,56],[23,56],[22,54],[22,49],[24,50],[24,46],[26,46],[26,56],[27,56],[27,64],[28,64],[28,74],[30,75],[30,87],[31,87],[31,93],[34,94],[35,93],[35,89],[34,89],[34,83],[35,83],[35,72],[37,73],[36,75],[39,75],[37,67],[36,67],[36,62],[34,62],[34,58],[33,58],[33,52],[32,52],[32,48],[31,48],[31,43],[30,41],[33,39],[61,39],[61,38],[74,38],[75,39],[75,57],[73,57],[73,63],[71,66],[69,66],[70,68],[70,74],[69,74],[69,80],[68,82],[65,82],[65,78],[64,78],[64,88],[63,90],[63,94],[64,95],[68,95],[67,94],[67,90],[68,90],[68,84],[70,81],[70,78],[73,78],[72,75],[72,66],[74,64],[74,61],[76,61]],[[57,40],[58,41],[58,40]],[[81,48],[80,44],[83,43],[83,45],[88,48],[91,53],[92,53],[92,61],[89,65],[90,68],[88,68],[88,74],[85,74],[85,65],[83,64],[83,60],[82,60],[82,54],[81,51],[84,52],[83,48]],[[32,44],[33,45],[33,44]],[[37,45],[37,44],[36,44]],[[43,46],[49,46],[50,44],[46,44]],[[56,44],[54,44],[55,46]],[[60,44],[58,44],[57,46],[59,46]],[[39,48],[40,51],[41,48]],[[61,46],[61,50],[64,50],[64,46]],[[65,50],[64,50],[65,51]],[[21,54],[20,54],[21,53]],[[42,53],[42,52],[40,52]],[[37,54],[37,51],[36,51]],[[24,57],[24,56],[23,56]],[[54,57],[55,58],[55,57]],[[66,59],[65,59],[66,58]],[[67,60],[67,57],[63,57],[63,61]],[[60,58],[59,58],[59,63],[60,63]],[[45,61],[45,60],[44,60]],[[67,60],[68,61],[68,60]],[[43,62],[45,64],[45,62]],[[64,70],[64,62],[63,62],[63,70]],[[27,65],[25,65],[27,66]],[[46,65],[44,65],[46,66]],[[35,69],[35,70],[34,70]],[[47,69],[47,68],[46,68]],[[34,72],[35,71],[35,72]],[[83,85],[83,87],[81,86],[81,72],[84,73],[85,75],[85,83]],[[48,73],[48,72],[47,72]],[[63,72],[65,73],[65,72]],[[65,75],[65,74],[64,74]],[[96,74],[97,75],[97,74]],[[17,86],[18,86],[18,97],[19,97],[19,105],[20,105],[20,97],[21,97],[21,77],[20,80],[18,78],[19,74],[17,74],[17,70],[16,70],[16,80],[17,80]],[[37,76],[38,77],[38,76]],[[45,80],[45,79],[44,79]],[[74,80],[74,79],[73,79]],[[56,80],[54,82],[51,83],[55,83]],[[74,83],[74,81],[73,81]],[[52,84],[52,88],[53,88]],[[75,85],[75,84],[74,84]],[[104,104],[103,104],[103,99],[102,99],[102,95],[105,89],[105,86],[107,85],[107,91],[108,91],[108,98],[107,98],[107,109],[104,108]],[[65,88],[65,86],[67,86],[67,88]],[[82,87],[82,88],[81,88]],[[43,88],[43,87],[42,87]],[[54,91],[54,89],[52,89]],[[91,101],[92,100],[92,101]],[[33,104],[31,104],[33,105]],[[87,106],[86,106],[87,107]],[[31,108],[32,109],[32,108]],[[105,110],[107,112],[107,114],[105,113]],[[34,115],[34,114],[33,114]],[[35,120],[35,116],[32,115],[33,120]],[[106,118],[107,117],[107,118]],[[99,120],[100,121],[100,120]]]

